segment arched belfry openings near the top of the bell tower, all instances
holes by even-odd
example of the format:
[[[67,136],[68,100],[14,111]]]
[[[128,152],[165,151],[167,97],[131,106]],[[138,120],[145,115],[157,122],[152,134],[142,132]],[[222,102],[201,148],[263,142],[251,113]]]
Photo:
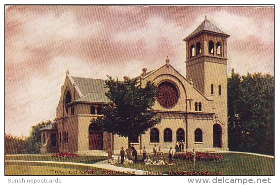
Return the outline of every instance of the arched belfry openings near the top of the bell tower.
[[[221,43],[217,42],[216,44],[216,52],[217,55],[221,55]],[[214,51],[214,42],[213,41],[209,41],[208,42],[208,53],[211,55],[214,55],[215,51]],[[200,42],[197,42],[196,46],[194,44],[191,45],[190,47],[190,56],[191,57],[195,57],[195,56],[199,56],[199,54],[201,54],[201,45]]]

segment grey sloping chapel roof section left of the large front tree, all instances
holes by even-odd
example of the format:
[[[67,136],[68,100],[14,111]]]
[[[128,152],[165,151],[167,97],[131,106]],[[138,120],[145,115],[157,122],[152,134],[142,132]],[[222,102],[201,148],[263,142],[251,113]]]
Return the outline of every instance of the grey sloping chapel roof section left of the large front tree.
[[[75,99],[74,101],[98,103],[110,102],[105,94],[105,92],[108,92],[108,89],[105,88],[106,80],[80,77],[72,78],[77,83],[77,86],[83,94],[83,96]]]

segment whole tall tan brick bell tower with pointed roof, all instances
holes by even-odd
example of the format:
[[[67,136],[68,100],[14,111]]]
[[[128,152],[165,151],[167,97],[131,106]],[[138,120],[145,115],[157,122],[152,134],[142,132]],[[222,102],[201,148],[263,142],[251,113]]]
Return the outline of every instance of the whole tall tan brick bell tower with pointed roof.
[[[216,125],[221,127],[222,144],[228,147],[227,123],[227,38],[206,16],[199,27],[183,39],[186,43],[186,78],[212,101]],[[215,126],[216,126],[215,125]],[[214,128],[212,127],[214,135]],[[214,140],[214,139],[213,139]],[[214,143],[216,144],[216,143]],[[213,147],[216,147],[214,146]]]

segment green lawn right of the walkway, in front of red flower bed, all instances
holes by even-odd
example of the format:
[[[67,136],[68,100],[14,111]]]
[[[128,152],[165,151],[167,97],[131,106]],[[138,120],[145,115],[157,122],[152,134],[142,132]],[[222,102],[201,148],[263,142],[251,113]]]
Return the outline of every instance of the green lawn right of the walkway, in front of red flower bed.
[[[208,172],[215,175],[220,172],[222,175],[274,175],[274,159],[250,154],[222,154],[224,160],[218,162],[197,161],[193,165],[192,161],[175,160],[173,166],[152,166],[136,163],[133,165],[123,165],[121,167],[134,168],[150,172],[161,172],[174,174],[174,172]],[[178,175],[179,173],[175,173]]]

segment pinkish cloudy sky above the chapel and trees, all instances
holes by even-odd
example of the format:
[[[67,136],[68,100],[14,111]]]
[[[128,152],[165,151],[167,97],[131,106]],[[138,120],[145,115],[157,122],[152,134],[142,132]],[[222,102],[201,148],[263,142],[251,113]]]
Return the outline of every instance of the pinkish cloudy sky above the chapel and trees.
[[[5,12],[5,132],[29,135],[55,118],[72,76],[135,77],[170,64],[185,76],[182,41],[204,20],[231,35],[228,74],[274,74],[274,8],[10,6]]]

